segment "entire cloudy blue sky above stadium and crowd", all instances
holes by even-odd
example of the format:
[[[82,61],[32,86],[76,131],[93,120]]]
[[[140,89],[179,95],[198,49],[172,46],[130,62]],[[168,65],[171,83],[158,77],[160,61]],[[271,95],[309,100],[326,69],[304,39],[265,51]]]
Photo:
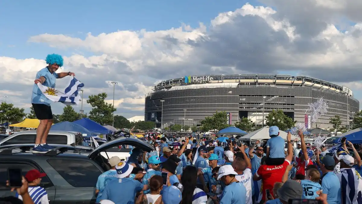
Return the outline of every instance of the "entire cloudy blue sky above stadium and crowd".
[[[51,53],[64,58],[58,72],[85,84],[85,99],[106,92],[111,103],[118,82],[115,114],[126,118],[144,114],[157,82],[185,75],[310,76],[362,99],[362,1],[36,2],[0,1],[0,100],[27,113]]]

